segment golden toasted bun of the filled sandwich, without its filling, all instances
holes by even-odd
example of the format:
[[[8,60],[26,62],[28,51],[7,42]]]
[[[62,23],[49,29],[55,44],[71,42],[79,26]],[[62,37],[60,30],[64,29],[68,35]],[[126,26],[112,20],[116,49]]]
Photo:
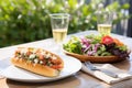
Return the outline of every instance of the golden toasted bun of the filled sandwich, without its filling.
[[[51,54],[53,54],[53,53],[51,53]],[[57,56],[57,55],[55,55],[55,56]],[[59,75],[61,70],[64,67],[63,59],[59,56],[57,56],[57,59],[61,59],[61,62],[62,62],[61,63],[62,68],[59,68],[59,69],[55,69],[55,68],[52,68],[52,67],[46,66],[46,65],[34,64],[30,61],[26,61],[23,58],[15,58],[15,57],[11,58],[11,63],[16,67],[30,70],[34,74],[38,74],[38,75],[46,76],[46,77],[55,77],[55,76]]]

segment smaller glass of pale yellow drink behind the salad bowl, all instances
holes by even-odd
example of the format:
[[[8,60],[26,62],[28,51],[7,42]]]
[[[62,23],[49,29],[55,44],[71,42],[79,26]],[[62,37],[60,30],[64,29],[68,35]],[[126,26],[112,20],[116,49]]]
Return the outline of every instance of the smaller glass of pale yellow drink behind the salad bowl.
[[[112,30],[112,12],[101,11],[97,14],[98,32],[101,35],[110,35]]]

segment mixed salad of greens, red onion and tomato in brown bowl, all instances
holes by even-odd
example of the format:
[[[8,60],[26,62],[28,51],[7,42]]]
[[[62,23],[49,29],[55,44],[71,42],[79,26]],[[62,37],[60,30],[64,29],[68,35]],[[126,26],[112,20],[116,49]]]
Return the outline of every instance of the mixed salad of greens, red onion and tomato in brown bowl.
[[[80,55],[129,57],[127,45],[109,35],[72,36],[63,47],[67,52]]]

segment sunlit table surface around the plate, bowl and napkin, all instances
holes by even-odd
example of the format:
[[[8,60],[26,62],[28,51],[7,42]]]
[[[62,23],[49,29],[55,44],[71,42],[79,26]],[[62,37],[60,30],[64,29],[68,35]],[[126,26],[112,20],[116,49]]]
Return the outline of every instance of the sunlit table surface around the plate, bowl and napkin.
[[[78,33],[68,35],[67,38],[69,38],[72,35],[82,36],[87,34],[98,34],[98,32],[97,31],[78,32]],[[127,44],[130,48],[132,48],[131,37],[121,36],[117,34],[111,34],[111,35],[119,38],[124,44]],[[0,59],[10,57],[14,53],[14,50],[18,46],[43,47],[52,52],[55,52],[54,50],[56,48],[53,38],[47,38],[47,40],[14,45],[14,46],[8,46],[8,47],[0,48]],[[120,69],[131,72],[132,70],[132,54],[130,55],[129,59],[120,62],[120,63],[116,63],[113,65],[119,67]],[[67,78],[56,80],[56,81],[50,81],[50,82],[30,84],[30,82],[14,81],[14,80],[4,78],[4,79],[0,79],[0,88],[132,88],[132,79],[121,81],[118,84],[113,84],[113,85],[108,85],[79,70],[73,76],[69,76]]]

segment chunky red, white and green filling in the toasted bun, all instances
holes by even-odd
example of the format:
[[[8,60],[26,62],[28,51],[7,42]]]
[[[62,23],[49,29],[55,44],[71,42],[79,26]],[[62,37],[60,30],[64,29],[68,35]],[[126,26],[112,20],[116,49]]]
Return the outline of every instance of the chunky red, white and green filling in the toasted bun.
[[[18,59],[25,59],[34,65],[40,64],[58,70],[63,68],[62,61],[57,58],[56,55],[53,55],[52,53],[48,53],[42,48],[19,47],[15,51],[14,57]]]

